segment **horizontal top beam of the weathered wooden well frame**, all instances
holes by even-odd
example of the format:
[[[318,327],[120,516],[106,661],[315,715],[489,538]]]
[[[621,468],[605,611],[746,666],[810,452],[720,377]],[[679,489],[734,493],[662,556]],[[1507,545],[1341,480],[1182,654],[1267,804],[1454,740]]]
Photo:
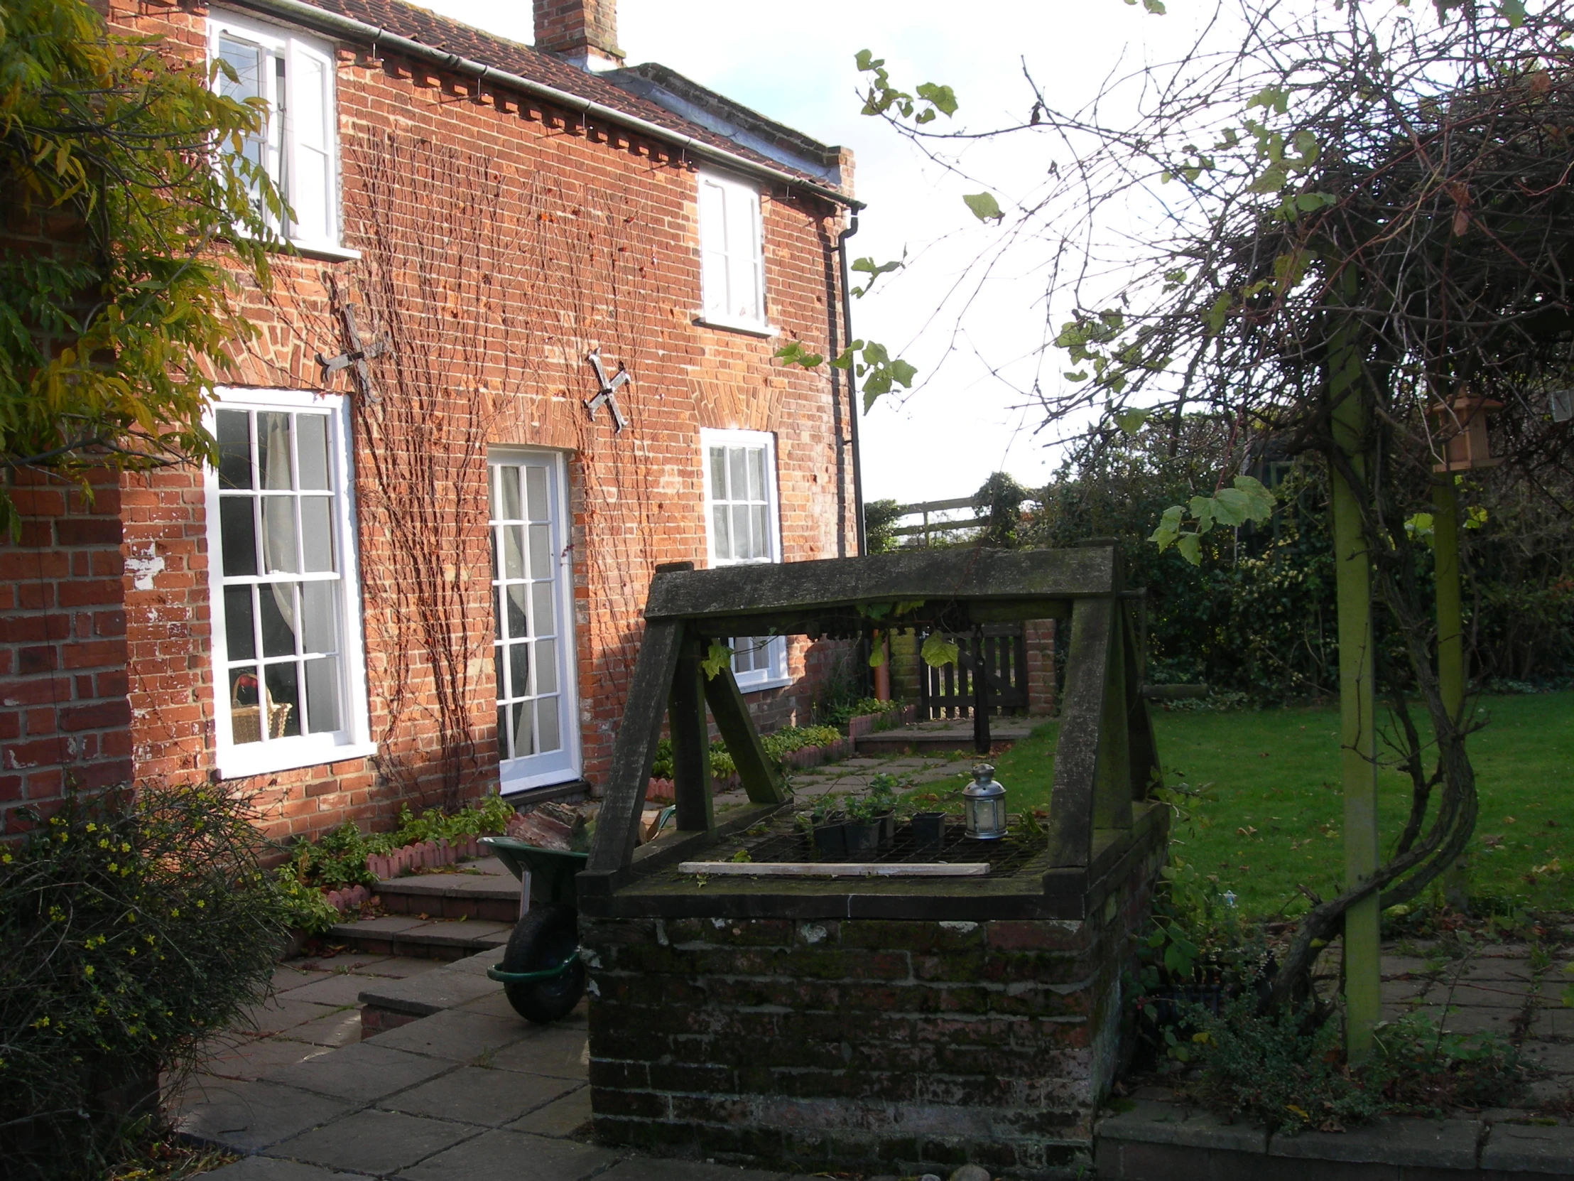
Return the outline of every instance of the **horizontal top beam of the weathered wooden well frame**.
[[[660,573],[645,619],[803,616],[853,603],[1084,598],[1116,590],[1116,551],[926,550]]]

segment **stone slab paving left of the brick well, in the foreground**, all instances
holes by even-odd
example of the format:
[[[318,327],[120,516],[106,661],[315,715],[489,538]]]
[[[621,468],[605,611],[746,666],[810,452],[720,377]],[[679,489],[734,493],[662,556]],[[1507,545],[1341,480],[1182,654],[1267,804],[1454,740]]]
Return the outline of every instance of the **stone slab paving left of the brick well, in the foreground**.
[[[477,961],[496,959],[483,953]],[[212,1181],[790,1181],[589,1142],[584,1006],[541,1028],[501,987],[445,989],[474,964],[337,956],[282,964],[255,1036],[217,1047],[175,1099],[179,1127],[241,1161]],[[441,973],[441,975],[431,975]],[[362,1039],[360,992],[461,1003]],[[807,1181],[806,1178],[800,1181]]]

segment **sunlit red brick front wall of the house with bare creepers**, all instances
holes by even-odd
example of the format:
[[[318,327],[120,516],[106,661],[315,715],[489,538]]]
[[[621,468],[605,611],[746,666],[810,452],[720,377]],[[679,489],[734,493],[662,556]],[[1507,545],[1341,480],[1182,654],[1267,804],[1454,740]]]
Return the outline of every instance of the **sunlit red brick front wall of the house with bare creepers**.
[[[116,6],[116,19],[200,54],[205,9]],[[702,328],[696,178],[664,145],[617,128],[477,93],[367,47],[338,52],[343,242],[359,261],[279,258],[274,290],[247,290],[260,340],[227,384],[329,389],[316,351],[340,351],[327,282],[360,305],[362,331],[409,339],[371,362],[381,406],[354,416],[359,562],[371,735],[379,756],[258,776],[277,831],[343,819],[389,822],[405,800],[474,795],[496,783],[496,709],[485,537],[486,446],[568,457],[573,597],[584,772],[608,767],[641,609],[658,562],[705,562],[699,431],[776,435],[784,557],[852,553],[845,391],[826,372],[784,370],[779,340]],[[836,209],[785,191],[763,198],[770,320],[782,339],[829,350]],[[397,321],[397,323],[394,323]],[[412,343],[414,342],[414,343]],[[590,422],[584,354],[600,346],[634,375],[619,400],[630,428]],[[842,395],[837,408],[833,389]],[[387,427],[417,406],[420,431]],[[453,611],[463,757],[444,759],[438,661],[412,636],[408,579],[395,561],[397,490],[373,472],[389,455],[431,454],[441,469],[447,602]],[[137,773],[212,773],[212,671],[201,479],[195,469],[129,479],[124,551]],[[793,641],[790,668],[825,665],[829,646]],[[812,680],[762,694],[773,723],[807,721]],[[449,718],[452,723],[452,716]]]

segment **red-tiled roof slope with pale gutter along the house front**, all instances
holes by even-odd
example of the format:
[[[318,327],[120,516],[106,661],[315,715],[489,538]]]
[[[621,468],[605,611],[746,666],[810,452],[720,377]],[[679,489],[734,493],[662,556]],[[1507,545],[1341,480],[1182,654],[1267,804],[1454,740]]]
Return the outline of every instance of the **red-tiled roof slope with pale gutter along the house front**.
[[[313,3],[307,3],[307,0],[224,0],[222,5],[216,6],[246,8],[343,41],[423,60],[441,69],[467,74],[480,82],[543,99],[563,110],[641,132],[680,148],[694,161],[718,164],[759,180],[809,192],[850,209],[864,208],[863,202],[834,183],[826,183],[823,165],[807,172],[782,164],[752,146],[683,118],[648,98],[634,94],[608,80],[603,74],[584,72],[551,54],[541,54],[516,41],[483,33],[458,20],[403,3],[403,0],[315,0]],[[689,83],[689,87],[693,85]],[[737,110],[746,112],[748,109],[737,107]],[[752,115],[752,112],[749,113]],[[768,124],[768,120],[762,117],[756,115],[754,118],[760,124]],[[787,128],[781,128],[781,131],[789,132]],[[807,137],[790,134],[801,143],[812,143]],[[804,164],[809,162],[804,161]]]

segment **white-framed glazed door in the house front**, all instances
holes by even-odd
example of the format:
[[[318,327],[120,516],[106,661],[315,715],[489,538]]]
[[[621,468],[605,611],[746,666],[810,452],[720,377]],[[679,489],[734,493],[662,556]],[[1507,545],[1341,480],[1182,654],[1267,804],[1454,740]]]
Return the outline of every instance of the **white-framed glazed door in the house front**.
[[[504,792],[579,776],[563,458],[496,450],[488,466],[497,772]]]

